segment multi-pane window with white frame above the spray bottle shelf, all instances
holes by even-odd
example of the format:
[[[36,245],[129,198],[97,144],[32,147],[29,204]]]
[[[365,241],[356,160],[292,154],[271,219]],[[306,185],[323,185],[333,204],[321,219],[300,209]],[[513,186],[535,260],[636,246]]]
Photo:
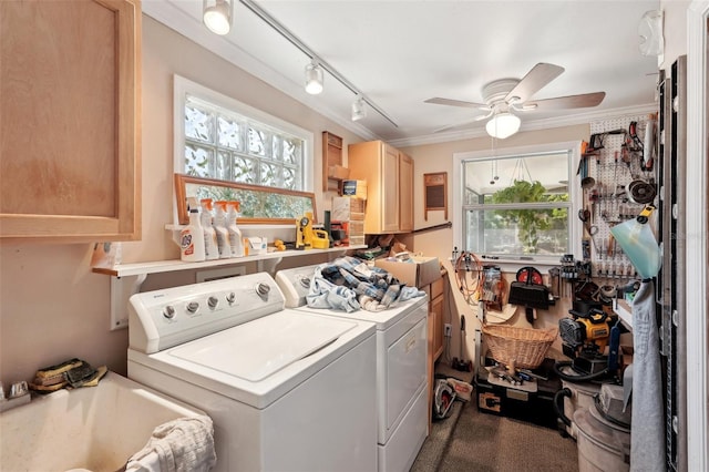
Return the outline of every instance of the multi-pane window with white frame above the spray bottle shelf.
[[[177,75],[174,93],[175,173],[312,191],[312,133]],[[298,216],[273,202],[273,217]]]

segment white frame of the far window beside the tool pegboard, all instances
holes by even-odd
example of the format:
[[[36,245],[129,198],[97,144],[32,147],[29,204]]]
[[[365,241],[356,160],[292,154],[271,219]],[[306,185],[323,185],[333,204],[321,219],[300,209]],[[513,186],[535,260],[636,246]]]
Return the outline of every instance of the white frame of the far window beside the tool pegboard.
[[[532,146],[520,146],[520,147],[506,147],[506,148],[497,148],[497,150],[485,150],[485,151],[467,151],[453,153],[453,175],[456,177],[453,178],[453,212],[452,212],[452,229],[453,229],[453,247],[458,248],[458,250],[466,250],[463,247],[463,227],[465,224],[465,208],[464,208],[464,195],[463,195],[463,186],[464,186],[464,173],[463,173],[463,164],[469,161],[482,161],[490,160],[491,157],[496,158],[511,158],[521,155],[534,155],[534,154],[544,154],[544,153],[569,153],[569,179],[568,179],[568,193],[569,193],[569,228],[568,228],[568,237],[572,247],[572,253],[576,259],[580,259],[582,255],[582,245],[580,245],[580,236],[582,236],[582,225],[580,220],[577,217],[574,217],[578,214],[578,209],[582,207],[582,203],[579,198],[583,197],[580,191],[580,184],[576,185],[573,177],[575,177],[574,170],[578,167],[578,163],[580,162],[580,141],[569,141],[569,142],[559,142],[559,143],[548,143],[541,145],[532,145]],[[493,155],[494,154],[494,155]],[[531,204],[534,205],[534,204]],[[514,205],[517,207],[517,205]],[[479,255],[479,256],[482,256]],[[524,259],[520,256],[514,256],[510,258],[501,257],[500,259],[494,259],[494,264],[501,266],[503,270],[517,270],[523,266],[534,265],[549,268],[553,266],[559,265],[559,258],[556,256],[543,256],[543,255],[530,255],[524,256]]]

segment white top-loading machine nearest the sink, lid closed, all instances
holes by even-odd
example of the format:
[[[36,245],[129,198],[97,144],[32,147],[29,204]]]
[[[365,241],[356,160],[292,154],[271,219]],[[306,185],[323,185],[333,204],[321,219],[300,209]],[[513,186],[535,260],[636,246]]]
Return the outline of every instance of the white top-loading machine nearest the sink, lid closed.
[[[377,469],[376,329],[266,273],[131,297],[129,378],[207,412],[216,471]]]

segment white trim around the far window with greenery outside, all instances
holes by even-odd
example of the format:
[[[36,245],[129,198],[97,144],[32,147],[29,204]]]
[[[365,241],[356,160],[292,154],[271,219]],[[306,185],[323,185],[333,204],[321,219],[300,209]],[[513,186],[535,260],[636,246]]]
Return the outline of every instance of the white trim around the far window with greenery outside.
[[[578,189],[579,185],[571,185],[572,179],[576,177],[575,170],[578,167],[578,163],[580,161],[580,141],[567,141],[563,143],[548,143],[548,144],[538,144],[534,146],[521,146],[521,147],[502,147],[495,151],[495,154],[499,157],[512,156],[512,155],[522,155],[522,154],[536,154],[536,153],[547,153],[555,151],[566,151],[568,150],[572,153],[571,163],[569,163],[569,175],[568,175],[568,191],[572,206],[569,208],[572,225],[569,228],[568,237],[569,240],[578,242],[578,244],[574,245],[574,257],[580,258],[580,222],[578,218],[575,218],[574,215],[578,214],[578,209],[580,208],[580,192]],[[463,161],[470,160],[480,160],[480,158],[490,158],[491,150],[486,151],[466,151],[462,153],[453,153],[453,175],[456,175],[453,178],[453,212],[452,212],[452,230],[453,230],[453,247],[456,247],[458,250],[465,250],[463,247],[461,234],[462,234],[462,225],[463,225],[463,203],[462,203],[462,189],[463,189],[463,172],[461,172],[461,165]],[[549,265],[549,258],[541,258],[540,260],[525,260],[525,261],[512,261],[504,260],[505,263],[512,264],[542,264]],[[554,261],[554,265],[558,265],[558,260]]]

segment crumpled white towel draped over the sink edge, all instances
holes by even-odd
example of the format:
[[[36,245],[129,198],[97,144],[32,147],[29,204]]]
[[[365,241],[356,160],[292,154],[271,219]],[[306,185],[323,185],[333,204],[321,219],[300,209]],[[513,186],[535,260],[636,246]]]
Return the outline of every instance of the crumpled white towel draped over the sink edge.
[[[126,472],[206,472],[217,461],[214,424],[199,415],[155,428],[147,444],[129,459]]]

